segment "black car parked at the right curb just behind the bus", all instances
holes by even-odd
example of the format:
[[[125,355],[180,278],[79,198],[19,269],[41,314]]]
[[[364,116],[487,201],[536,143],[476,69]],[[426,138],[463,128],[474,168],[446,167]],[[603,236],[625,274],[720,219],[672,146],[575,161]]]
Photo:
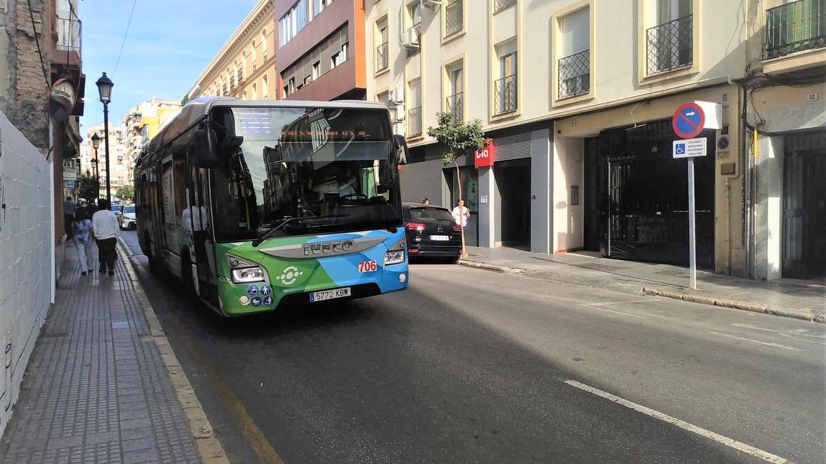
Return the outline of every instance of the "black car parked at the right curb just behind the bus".
[[[450,211],[442,206],[404,203],[407,253],[416,258],[444,258],[456,263],[462,253],[462,230]]]

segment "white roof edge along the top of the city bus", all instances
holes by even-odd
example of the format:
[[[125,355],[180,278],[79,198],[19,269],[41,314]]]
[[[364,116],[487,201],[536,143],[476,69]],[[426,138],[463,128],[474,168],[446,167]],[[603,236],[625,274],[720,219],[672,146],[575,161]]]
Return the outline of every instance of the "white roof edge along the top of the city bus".
[[[363,100],[336,100],[334,102],[312,102],[309,100],[239,100],[234,97],[200,97],[187,102],[178,116],[173,117],[169,124],[160,130],[145,149],[145,154],[153,154],[159,148],[183,134],[192,125],[201,121],[212,108],[216,107],[283,107],[283,108],[363,108],[371,110],[387,110],[387,107],[378,102],[364,102]],[[142,158],[143,156],[141,156]],[[140,163],[140,159],[138,161]]]

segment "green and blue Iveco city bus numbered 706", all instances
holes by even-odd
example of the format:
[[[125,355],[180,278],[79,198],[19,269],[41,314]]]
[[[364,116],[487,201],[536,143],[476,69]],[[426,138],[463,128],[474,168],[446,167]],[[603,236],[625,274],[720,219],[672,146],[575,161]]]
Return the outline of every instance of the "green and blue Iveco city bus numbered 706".
[[[135,167],[153,272],[224,316],[408,285],[399,166],[371,102],[188,102]]]

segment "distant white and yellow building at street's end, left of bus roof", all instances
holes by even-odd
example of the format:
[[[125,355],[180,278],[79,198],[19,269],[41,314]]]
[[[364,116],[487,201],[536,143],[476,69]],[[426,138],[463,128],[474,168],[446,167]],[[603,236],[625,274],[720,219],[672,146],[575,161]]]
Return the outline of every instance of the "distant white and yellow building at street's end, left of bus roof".
[[[175,115],[181,112],[181,102],[152,97],[132,107],[123,115],[123,152],[126,158],[126,183],[132,185],[135,178],[135,163],[140,150],[144,148],[158,131]]]

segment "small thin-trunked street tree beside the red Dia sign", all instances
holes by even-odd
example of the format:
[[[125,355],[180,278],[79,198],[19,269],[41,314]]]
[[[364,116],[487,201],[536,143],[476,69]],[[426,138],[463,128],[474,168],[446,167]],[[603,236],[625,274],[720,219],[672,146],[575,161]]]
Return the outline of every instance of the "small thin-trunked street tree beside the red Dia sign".
[[[459,165],[456,159],[465,156],[477,149],[482,149],[485,145],[485,132],[482,130],[482,121],[474,119],[469,122],[460,122],[453,119],[451,113],[437,113],[436,119],[439,125],[428,127],[427,135],[430,135],[446,150],[442,154],[442,163],[456,167],[456,184],[459,187],[459,200],[462,200],[462,182],[459,181]],[[465,252],[464,221],[459,220],[459,227],[462,230],[462,257],[468,256]]]

